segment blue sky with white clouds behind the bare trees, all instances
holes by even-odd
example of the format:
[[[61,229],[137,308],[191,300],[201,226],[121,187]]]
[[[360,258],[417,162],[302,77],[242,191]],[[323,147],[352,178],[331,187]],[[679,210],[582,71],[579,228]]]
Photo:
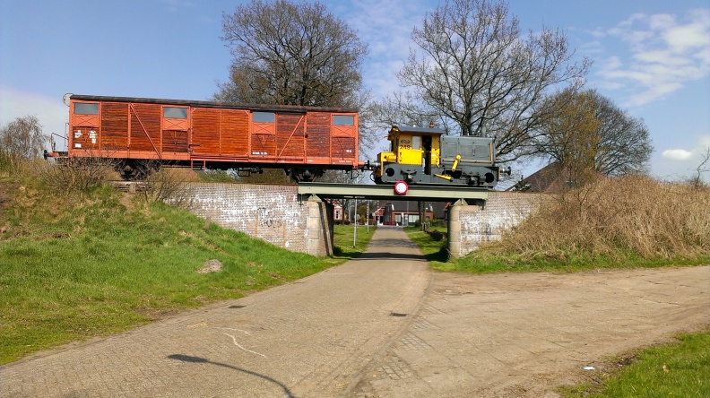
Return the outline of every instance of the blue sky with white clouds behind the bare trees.
[[[0,0],[0,125],[39,118],[65,134],[67,93],[208,100],[229,78],[223,13],[244,0]],[[411,30],[437,0],[323,0],[368,45],[365,88],[397,91]],[[693,175],[710,148],[710,0],[509,0],[520,27],[567,33],[595,89],[643,119],[664,180]],[[710,166],[710,165],[708,165]],[[527,177],[541,167],[513,165]],[[706,173],[706,180],[710,180]]]

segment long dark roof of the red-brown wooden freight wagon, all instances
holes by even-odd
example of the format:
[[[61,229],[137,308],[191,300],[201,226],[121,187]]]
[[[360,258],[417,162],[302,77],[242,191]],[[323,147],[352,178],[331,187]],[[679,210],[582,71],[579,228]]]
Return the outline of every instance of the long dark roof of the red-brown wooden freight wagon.
[[[342,113],[357,113],[355,108],[335,108],[335,107],[301,107],[297,105],[273,105],[273,104],[232,104],[218,101],[198,101],[189,99],[156,99],[156,98],[139,98],[139,97],[108,97],[100,95],[82,95],[70,94],[71,99],[79,99],[86,101],[103,101],[103,102],[134,102],[143,104],[161,104],[161,105],[182,105],[194,108],[230,108],[230,109],[248,109],[255,111],[272,111],[272,112],[342,112]]]

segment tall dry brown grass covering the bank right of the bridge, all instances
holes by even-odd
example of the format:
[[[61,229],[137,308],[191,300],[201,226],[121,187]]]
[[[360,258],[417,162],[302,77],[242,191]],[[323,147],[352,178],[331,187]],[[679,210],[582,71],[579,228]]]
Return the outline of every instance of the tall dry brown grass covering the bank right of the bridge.
[[[710,255],[710,187],[604,178],[548,197],[501,244],[522,254]]]

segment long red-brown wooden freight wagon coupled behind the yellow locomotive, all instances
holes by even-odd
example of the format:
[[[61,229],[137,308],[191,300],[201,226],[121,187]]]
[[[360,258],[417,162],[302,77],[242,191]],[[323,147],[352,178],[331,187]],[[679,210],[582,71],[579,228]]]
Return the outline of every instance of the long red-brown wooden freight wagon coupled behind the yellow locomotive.
[[[67,94],[69,158],[194,169],[287,169],[307,179],[358,168],[353,109]],[[306,177],[304,177],[304,174]]]

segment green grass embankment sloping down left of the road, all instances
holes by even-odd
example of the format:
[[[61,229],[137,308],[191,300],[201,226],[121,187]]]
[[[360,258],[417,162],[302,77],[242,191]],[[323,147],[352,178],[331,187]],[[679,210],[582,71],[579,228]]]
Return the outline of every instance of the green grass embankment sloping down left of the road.
[[[57,198],[0,185],[0,364],[318,273],[372,235],[359,229],[352,248],[336,229],[341,256],[317,258],[108,187]],[[221,272],[196,273],[211,259]]]

